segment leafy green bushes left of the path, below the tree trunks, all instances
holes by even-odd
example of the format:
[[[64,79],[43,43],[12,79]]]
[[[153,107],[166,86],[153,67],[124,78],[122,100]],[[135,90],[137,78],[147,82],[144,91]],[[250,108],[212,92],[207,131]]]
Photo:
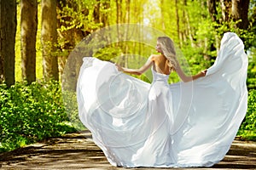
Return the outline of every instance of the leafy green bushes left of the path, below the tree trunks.
[[[73,132],[59,82],[0,85],[0,151]]]

